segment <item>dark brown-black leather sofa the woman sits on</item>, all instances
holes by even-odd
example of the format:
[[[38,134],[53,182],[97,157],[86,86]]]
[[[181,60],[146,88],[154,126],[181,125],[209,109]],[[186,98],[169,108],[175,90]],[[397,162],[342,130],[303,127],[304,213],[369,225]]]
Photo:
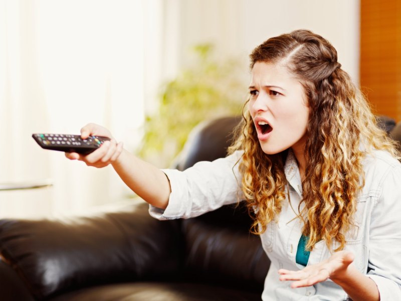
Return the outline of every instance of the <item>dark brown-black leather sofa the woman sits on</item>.
[[[401,124],[380,117],[399,140]],[[224,157],[239,118],[206,122],[176,162]],[[0,220],[0,300],[260,300],[270,261],[243,204],[158,221],[141,200],[83,217]]]

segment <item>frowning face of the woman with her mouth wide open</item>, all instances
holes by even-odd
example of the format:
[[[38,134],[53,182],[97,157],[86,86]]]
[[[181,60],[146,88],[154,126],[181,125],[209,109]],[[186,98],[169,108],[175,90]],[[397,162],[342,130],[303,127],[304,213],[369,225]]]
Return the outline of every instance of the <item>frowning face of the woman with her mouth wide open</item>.
[[[249,92],[263,152],[273,155],[291,147],[295,154],[303,153],[309,108],[301,83],[280,62],[256,62]]]

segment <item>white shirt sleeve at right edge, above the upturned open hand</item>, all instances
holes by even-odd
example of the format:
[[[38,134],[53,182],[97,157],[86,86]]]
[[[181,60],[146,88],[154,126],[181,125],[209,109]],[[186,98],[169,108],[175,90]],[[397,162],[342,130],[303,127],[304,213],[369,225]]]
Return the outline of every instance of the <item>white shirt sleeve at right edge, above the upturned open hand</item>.
[[[368,276],[381,300],[401,300],[401,166],[394,164],[381,181],[370,220]]]

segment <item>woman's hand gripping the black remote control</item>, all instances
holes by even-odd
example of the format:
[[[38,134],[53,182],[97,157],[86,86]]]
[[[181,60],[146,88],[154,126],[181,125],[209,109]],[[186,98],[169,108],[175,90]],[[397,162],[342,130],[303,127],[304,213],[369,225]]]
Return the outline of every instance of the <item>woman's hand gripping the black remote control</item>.
[[[83,161],[87,166],[93,166],[96,168],[105,167],[116,161],[122,152],[123,143],[117,143],[111,132],[107,128],[98,124],[89,123],[81,128],[82,139],[86,139],[92,135],[109,137],[110,140],[105,141],[98,149],[88,155],[65,153],[65,156],[70,160]]]

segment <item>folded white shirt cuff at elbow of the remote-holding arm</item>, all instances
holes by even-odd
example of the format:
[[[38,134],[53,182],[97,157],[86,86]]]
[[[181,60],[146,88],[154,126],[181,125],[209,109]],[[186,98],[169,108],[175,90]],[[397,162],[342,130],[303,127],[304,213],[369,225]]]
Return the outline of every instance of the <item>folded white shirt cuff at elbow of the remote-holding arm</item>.
[[[182,190],[180,190],[179,188],[185,187],[185,183],[182,182],[186,182],[186,180],[184,179],[182,172],[180,171],[165,169],[162,170],[162,172],[167,176],[171,187],[171,193],[168,198],[168,205],[166,209],[160,209],[149,205],[149,214],[150,216],[158,220],[171,220],[182,218],[182,216],[184,215],[184,198],[182,198]]]

